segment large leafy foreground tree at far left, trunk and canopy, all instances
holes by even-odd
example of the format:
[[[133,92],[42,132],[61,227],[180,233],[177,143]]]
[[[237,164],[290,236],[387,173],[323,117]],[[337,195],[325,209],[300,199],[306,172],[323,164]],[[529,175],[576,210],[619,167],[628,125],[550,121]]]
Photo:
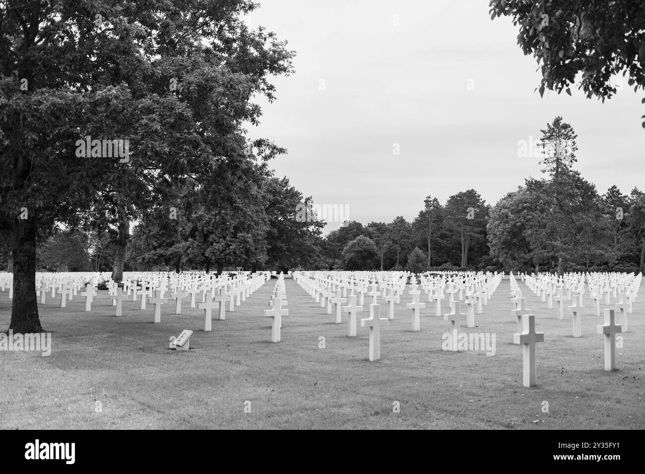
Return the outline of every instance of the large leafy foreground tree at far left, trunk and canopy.
[[[257,7],[224,1],[8,1],[0,4],[0,227],[10,228],[10,328],[41,331],[35,242],[73,221],[103,190],[123,234],[143,197],[204,170],[247,159],[242,123],[257,124],[255,94],[274,99],[273,74],[292,53],[249,30]],[[83,157],[77,141],[130,141],[130,157]],[[257,146],[257,143],[256,143]],[[262,150],[258,152],[262,154]],[[126,192],[127,191],[127,192]],[[243,190],[240,190],[243,192]],[[127,239],[123,235],[119,243]]]

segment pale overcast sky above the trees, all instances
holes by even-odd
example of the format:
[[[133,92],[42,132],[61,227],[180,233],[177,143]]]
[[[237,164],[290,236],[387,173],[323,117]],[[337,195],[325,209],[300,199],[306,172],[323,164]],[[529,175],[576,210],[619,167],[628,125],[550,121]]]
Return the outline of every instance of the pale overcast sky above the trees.
[[[577,88],[541,98],[518,28],[492,21],[486,0],[261,3],[248,25],[275,32],[297,55],[250,137],[288,149],[273,161],[276,175],[315,203],[346,205],[363,224],[412,221],[426,195],[444,204],[468,188],[495,204],[541,175],[539,158],[519,157],[518,142],[537,141],[557,115],[577,132],[577,169],[600,193],[645,188],[645,94],[624,81],[604,104]]]

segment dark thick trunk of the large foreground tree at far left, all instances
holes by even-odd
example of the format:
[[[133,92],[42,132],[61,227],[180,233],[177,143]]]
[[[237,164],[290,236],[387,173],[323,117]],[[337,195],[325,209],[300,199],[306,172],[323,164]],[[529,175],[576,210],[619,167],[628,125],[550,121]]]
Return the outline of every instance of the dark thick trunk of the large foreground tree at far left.
[[[14,224],[14,299],[9,329],[14,333],[39,333],[43,328],[38,317],[36,299],[36,219],[17,219]]]

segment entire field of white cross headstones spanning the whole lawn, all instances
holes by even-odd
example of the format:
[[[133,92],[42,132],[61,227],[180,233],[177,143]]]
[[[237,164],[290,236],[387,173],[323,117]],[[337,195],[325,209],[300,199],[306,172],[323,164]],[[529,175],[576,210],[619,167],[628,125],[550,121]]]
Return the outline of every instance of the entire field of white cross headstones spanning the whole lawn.
[[[408,272],[289,272],[293,279],[319,302],[321,308],[326,308],[333,315],[337,324],[342,322],[342,312],[348,313],[349,337],[356,335],[357,314],[363,311],[364,298],[371,297],[370,317],[361,319],[362,327],[370,328],[369,360],[379,360],[380,329],[394,319],[394,304],[399,304],[407,281],[412,280],[408,294],[412,302],[406,307],[412,310],[412,330],[421,330],[420,311],[426,304],[421,302],[421,294],[425,293],[428,302],[434,302],[435,315],[441,316],[442,300],[448,298],[451,312],[444,315],[444,321],[450,321],[450,339],[448,350],[459,351],[457,339],[462,322],[472,328],[475,326],[475,314],[482,313],[482,306],[488,304],[502,281],[502,274],[482,272],[446,272],[435,275],[415,277]],[[275,275],[275,272],[273,272]],[[112,306],[115,306],[115,316],[122,315],[122,302],[128,299],[140,301],[141,310],[146,304],[154,304],[154,322],[161,322],[161,305],[167,302],[166,293],[175,300],[175,314],[181,314],[182,300],[190,297],[191,308],[204,310],[204,331],[211,331],[212,310],[217,309],[217,319],[225,319],[226,304],[228,310],[234,311],[235,306],[246,300],[272,276],[270,272],[241,272],[237,275],[220,275],[211,273],[167,273],[167,272],[129,272],[124,274],[123,282],[117,285],[109,280],[106,282],[108,293],[112,296]],[[615,336],[617,333],[628,331],[628,314],[632,312],[632,304],[640,288],[642,275],[633,273],[566,273],[563,277],[540,273],[538,275],[519,274],[521,281],[530,291],[546,303],[547,308],[557,304],[557,318],[564,319],[564,303],[572,301],[568,306],[573,316],[573,337],[581,337],[581,315],[584,310],[583,297],[586,289],[589,298],[594,302],[594,314],[600,315],[600,301],[610,306],[612,299],[614,308],[605,308],[603,325],[597,327],[597,332],[605,336],[605,370],[615,370]],[[12,298],[12,275],[0,274],[0,291],[9,290]],[[85,297],[85,310],[92,310],[92,301],[97,294],[97,278],[88,273],[39,273],[36,277],[37,292],[41,304],[45,304],[47,295],[61,298],[61,308],[66,301],[72,301],[81,288],[80,295]],[[535,331],[535,315],[526,308],[526,298],[517,284],[515,275],[510,275],[510,293],[514,309],[511,317],[517,321],[517,333],[513,335],[515,344],[524,346],[524,386],[537,384],[535,344],[544,342],[544,333]],[[378,298],[388,303],[388,317],[380,317],[381,305]],[[199,302],[201,300],[201,302]],[[348,303],[346,306],[343,306]],[[465,305],[466,313],[461,312],[461,304]],[[271,342],[281,341],[281,328],[284,327],[283,316],[288,315],[284,275],[278,275],[273,288],[270,309],[264,311],[266,317],[272,318]],[[615,322],[615,311],[618,311],[619,324]],[[188,348],[192,331],[184,330],[178,338],[171,338],[170,346],[177,349]]]

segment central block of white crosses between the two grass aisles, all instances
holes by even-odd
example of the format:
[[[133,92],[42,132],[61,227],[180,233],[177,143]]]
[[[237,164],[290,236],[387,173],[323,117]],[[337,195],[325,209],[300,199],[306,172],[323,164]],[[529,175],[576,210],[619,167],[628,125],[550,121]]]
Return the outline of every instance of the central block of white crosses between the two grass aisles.
[[[370,318],[361,319],[361,326],[368,324],[370,327],[370,360],[378,360],[380,357],[380,326],[388,324],[394,319],[394,304],[399,303],[401,293],[406,286],[408,273],[402,272],[295,272],[293,279],[305,291],[309,293],[316,302],[320,302],[321,308],[327,309],[328,314],[334,315],[336,324],[341,324],[341,309],[348,313],[348,330],[350,337],[356,335],[356,315],[363,311],[364,297],[372,298],[370,304]],[[443,289],[447,285],[450,297],[452,312],[445,315],[446,321],[451,321],[452,341],[457,341],[462,317],[466,317],[468,327],[475,326],[475,299],[474,292],[479,295],[479,313],[481,304],[488,301],[492,293],[502,280],[502,275],[488,273],[445,273],[433,277],[421,277],[421,288],[428,293],[428,301],[436,301],[435,313],[441,315],[441,300],[444,299]],[[412,310],[412,330],[421,330],[420,311],[425,308],[425,303],[420,301],[421,290],[418,290],[419,283],[413,282],[409,291],[412,295],[412,302],[406,307]],[[435,291],[435,293],[432,293]],[[358,293],[358,295],[356,294]],[[457,295],[458,299],[455,299]],[[347,300],[347,306],[342,306]],[[360,297],[360,304],[357,304],[357,297]],[[389,311],[387,318],[380,317],[380,305],[378,297],[388,302]],[[467,300],[467,312],[461,313],[461,299]],[[485,304],[485,303],[484,303]],[[457,350],[457,344],[452,344],[452,350]]]

